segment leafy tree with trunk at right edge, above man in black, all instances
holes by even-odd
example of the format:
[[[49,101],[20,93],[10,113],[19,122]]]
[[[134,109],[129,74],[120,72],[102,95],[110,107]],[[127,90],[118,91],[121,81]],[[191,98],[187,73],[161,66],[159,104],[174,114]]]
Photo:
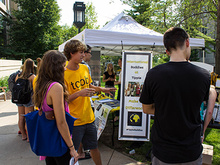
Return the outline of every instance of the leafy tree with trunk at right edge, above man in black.
[[[180,6],[179,11],[182,17],[176,26],[183,26],[191,37],[205,39],[207,51],[215,52],[215,72],[220,75],[220,50],[217,43],[218,33],[220,32],[220,22],[218,20],[220,18],[217,18],[220,17],[218,15],[219,1],[184,0]],[[210,29],[213,30],[210,31]],[[207,33],[207,31],[209,32]]]

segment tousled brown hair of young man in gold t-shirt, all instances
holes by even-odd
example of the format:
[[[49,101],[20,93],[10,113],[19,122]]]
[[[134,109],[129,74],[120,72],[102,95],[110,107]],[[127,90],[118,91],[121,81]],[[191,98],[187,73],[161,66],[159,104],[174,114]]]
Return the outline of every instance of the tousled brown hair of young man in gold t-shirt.
[[[64,46],[64,54],[68,61],[71,59],[70,53],[74,54],[78,51],[84,52],[85,50],[86,50],[86,45],[79,40],[70,40]]]

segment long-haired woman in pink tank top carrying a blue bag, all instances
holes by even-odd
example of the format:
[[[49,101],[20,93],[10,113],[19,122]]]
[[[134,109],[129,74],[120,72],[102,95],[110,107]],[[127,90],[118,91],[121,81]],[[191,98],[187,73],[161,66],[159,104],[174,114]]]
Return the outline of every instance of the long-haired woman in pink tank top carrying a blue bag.
[[[65,111],[69,111],[68,94],[64,84],[65,64],[66,57],[62,53],[57,50],[47,51],[42,58],[40,69],[38,68],[38,78],[34,83],[35,106],[42,106],[45,111],[54,111],[57,128],[69,147],[68,151],[60,157],[47,156],[45,160],[47,165],[69,165],[71,157],[74,157],[75,162],[78,160],[78,153],[74,148],[65,119]],[[77,136],[77,134],[72,136]]]

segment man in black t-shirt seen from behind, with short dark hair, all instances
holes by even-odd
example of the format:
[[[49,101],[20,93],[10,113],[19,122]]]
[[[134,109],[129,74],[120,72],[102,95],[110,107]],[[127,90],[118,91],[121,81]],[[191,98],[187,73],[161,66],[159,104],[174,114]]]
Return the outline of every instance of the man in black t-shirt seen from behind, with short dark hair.
[[[191,48],[185,30],[174,27],[163,37],[170,62],[148,71],[140,102],[154,114],[153,165],[202,165],[200,105],[208,100],[210,74],[188,62]]]

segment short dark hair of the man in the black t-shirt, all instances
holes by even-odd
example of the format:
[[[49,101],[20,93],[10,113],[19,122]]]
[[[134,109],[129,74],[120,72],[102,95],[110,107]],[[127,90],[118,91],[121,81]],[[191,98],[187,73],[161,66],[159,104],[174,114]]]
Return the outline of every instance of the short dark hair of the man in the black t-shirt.
[[[163,36],[163,43],[165,48],[171,52],[171,49],[182,48],[184,42],[189,38],[185,30],[179,27],[172,27],[168,29]]]

